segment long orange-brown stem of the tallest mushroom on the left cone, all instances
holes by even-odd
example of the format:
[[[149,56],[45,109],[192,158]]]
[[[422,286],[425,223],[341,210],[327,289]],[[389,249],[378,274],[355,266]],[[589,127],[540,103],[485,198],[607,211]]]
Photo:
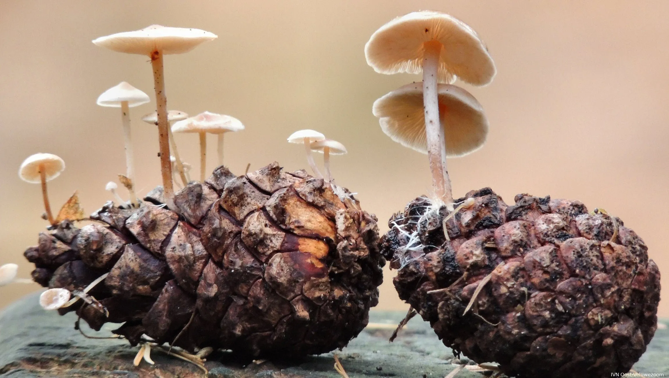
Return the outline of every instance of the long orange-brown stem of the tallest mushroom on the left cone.
[[[165,77],[163,74],[163,52],[151,53],[153,84],[156,92],[156,112],[158,114],[158,142],[161,158],[161,175],[165,203],[175,209],[174,188],[172,184],[172,163],[169,161],[169,124],[167,123],[167,96],[165,95]]]

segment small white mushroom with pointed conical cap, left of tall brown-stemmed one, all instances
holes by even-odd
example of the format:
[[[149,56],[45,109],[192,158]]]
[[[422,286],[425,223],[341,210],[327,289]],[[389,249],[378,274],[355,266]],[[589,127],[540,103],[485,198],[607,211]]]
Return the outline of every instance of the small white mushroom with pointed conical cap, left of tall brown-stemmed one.
[[[111,108],[121,108],[121,122],[123,124],[123,143],[126,153],[126,176],[130,179],[130,203],[133,207],[138,205],[137,195],[134,193],[134,155],[132,153],[132,140],[130,138],[130,108],[140,106],[151,101],[146,93],[134,88],[126,82],[120,82],[117,86],[102,92],[98,97],[97,104]]]

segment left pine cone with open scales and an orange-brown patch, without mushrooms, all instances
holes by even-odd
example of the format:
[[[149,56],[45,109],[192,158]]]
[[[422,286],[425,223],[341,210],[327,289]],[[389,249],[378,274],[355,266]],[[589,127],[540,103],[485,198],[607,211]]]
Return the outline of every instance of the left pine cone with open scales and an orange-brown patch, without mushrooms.
[[[114,333],[132,345],[172,343],[191,321],[176,346],[253,356],[326,353],[367,325],[385,260],[376,217],[346,189],[272,163],[241,177],[219,167],[176,193],[178,213],[161,197],[40,233],[25,257],[43,286],[81,290],[109,273],[89,293],[108,318],[82,301],[62,313],[96,330],[122,322]]]

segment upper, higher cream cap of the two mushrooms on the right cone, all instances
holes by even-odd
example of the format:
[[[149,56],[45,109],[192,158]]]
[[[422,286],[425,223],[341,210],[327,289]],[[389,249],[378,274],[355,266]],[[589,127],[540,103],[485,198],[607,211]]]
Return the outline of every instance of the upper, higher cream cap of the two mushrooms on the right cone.
[[[397,17],[375,31],[365,45],[367,64],[380,74],[423,72],[423,43],[440,41],[438,81],[456,78],[472,85],[490,83],[495,64],[476,31],[446,13],[417,11]]]

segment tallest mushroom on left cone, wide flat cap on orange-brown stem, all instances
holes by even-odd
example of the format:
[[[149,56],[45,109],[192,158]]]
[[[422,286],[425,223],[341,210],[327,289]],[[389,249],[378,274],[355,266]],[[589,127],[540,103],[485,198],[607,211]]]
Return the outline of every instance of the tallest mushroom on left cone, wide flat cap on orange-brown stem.
[[[197,45],[215,38],[217,38],[217,35],[200,29],[151,25],[136,31],[125,31],[99,37],[93,41],[96,45],[115,52],[139,54],[151,58],[158,112],[159,155],[161,158],[163,191],[165,202],[171,208],[174,208],[174,189],[172,187],[172,166],[169,161],[169,125],[167,124],[167,96],[165,95],[165,79],[163,77],[163,56],[189,52]]]

